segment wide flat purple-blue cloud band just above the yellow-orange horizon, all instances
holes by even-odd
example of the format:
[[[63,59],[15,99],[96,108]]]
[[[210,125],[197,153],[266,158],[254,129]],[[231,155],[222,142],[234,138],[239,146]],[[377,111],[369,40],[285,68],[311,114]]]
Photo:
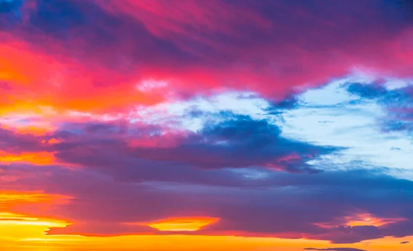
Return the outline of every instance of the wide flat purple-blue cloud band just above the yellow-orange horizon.
[[[125,172],[123,168],[118,170],[119,173]],[[191,171],[185,173],[187,170],[190,169],[176,167],[162,173],[157,169],[157,172],[151,173],[150,180],[136,183],[113,179],[106,174],[107,171],[100,169],[12,165],[5,168],[1,175],[21,178],[17,181],[6,180],[1,183],[1,188],[41,188],[45,193],[74,197],[69,204],[38,212],[52,216],[59,213],[59,217],[64,219],[83,222],[70,228],[52,228],[50,234],[142,234],[148,229],[129,225],[123,227],[120,222],[148,222],[200,215],[218,217],[220,221],[195,232],[174,234],[220,235],[237,232],[243,236],[324,239],[334,243],[413,234],[410,210],[413,182],[407,180],[371,171],[314,175],[273,171],[267,177],[242,177],[240,174],[229,175],[223,170],[211,173],[204,170],[193,176]],[[36,175],[23,175],[34,171]],[[252,170],[246,171],[253,174]],[[131,173],[135,175],[134,179],[140,175],[134,171]],[[141,173],[141,177],[145,177],[145,173]],[[169,176],[173,182],[165,181]],[[188,182],[190,180],[192,182]],[[21,208],[22,213],[29,213],[30,210]],[[358,213],[404,220],[377,227],[344,226],[345,217]],[[153,231],[154,234],[165,234]]]

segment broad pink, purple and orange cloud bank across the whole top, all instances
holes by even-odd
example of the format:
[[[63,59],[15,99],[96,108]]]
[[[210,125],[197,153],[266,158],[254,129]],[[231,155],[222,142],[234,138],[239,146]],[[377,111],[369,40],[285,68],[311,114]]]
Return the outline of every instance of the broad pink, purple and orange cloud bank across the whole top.
[[[7,15],[0,54],[8,65],[1,82],[10,86],[1,91],[2,102],[13,111],[40,104],[117,113],[170,94],[185,98],[222,88],[278,102],[354,67],[410,76],[409,57],[398,56],[411,53],[410,13],[388,1],[209,1],[208,8],[180,3],[173,12],[164,1],[1,4]],[[167,87],[136,88],[145,81]],[[22,83],[30,99],[21,96]],[[17,107],[10,106],[16,98]]]

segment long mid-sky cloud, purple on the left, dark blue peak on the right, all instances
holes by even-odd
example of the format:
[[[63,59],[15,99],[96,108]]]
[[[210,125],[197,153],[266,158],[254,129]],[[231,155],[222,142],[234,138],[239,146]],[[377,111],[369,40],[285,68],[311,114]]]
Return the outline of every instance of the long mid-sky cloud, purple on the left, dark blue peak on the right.
[[[150,163],[148,160],[153,160],[167,166],[209,169],[264,166],[293,173],[317,173],[306,161],[338,150],[282,138],[279,128],[266,120],[233,113],[215,116],[223,121],[209,122],[197,133],[171,134],[175,142],[171,146],[128,144],[130,138],[138,143],[167,139],[168,132],[161,135],[157,127],[95,123],[67,124],[67,129],[63,127],[54,137],[69,136],[52,147],[60,160],[83,166],[145,166]]]

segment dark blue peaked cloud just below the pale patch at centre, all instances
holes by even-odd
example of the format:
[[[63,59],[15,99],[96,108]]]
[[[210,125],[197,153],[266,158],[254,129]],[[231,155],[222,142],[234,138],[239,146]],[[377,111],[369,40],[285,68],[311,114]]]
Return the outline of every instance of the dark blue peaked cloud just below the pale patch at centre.
[[[313,173],[305,162],[334,148],[311,146],[286,140],[266,120],[231,113],[218,124],[207,124],[199,133],[188,135],[178,146],[164,149],[136,149],[139,157],[185,162],[202,168],[273,166],[299,173]]]

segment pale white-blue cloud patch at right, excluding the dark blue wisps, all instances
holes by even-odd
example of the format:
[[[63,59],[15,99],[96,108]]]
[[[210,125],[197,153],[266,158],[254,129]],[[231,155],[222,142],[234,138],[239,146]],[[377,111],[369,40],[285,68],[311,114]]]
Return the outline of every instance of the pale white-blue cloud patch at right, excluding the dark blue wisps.
[[[413,179],[413,144],[407,132],[383,133],[378,122],[387,114],[385,107],[377,100],[348,94],[342,84],[340,80],[302,94],[299,108],[284,113],[284,122],[279,124],[282,135],[319,146],[345,148],[310,164],[328,168],[385,167],[390,168],[391,175]],[[363,166],[352,166],[354,163]]]

